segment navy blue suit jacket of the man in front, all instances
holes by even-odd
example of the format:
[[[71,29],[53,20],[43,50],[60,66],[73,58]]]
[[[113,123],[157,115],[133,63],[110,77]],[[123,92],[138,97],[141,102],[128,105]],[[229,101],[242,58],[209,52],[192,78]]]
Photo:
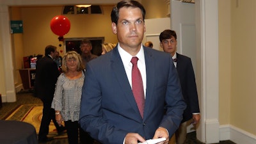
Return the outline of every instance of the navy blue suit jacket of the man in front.
[[[86,65],[79,123],[100,143],[123,143],[128,132],[137,132],[147,140],[158,127],[166,128],[172,136],[179,127],[186,104],[172,58],[143,48],[147,71],[143,118],[117,47]]]

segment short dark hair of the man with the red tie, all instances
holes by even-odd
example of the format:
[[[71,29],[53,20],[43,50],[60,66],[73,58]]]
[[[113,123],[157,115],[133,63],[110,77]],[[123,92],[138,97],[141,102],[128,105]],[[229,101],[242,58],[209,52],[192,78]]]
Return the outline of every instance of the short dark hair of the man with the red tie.
[[[143,20],[145,19],[146,11],[141,3],[139,3],[138,1],[124,0],[117,3],[111,12],[111,20],[112,22],[115,22],[115,24],[117,24],[117,21],[119,19],[119,10],[120,8],[123,8],[123,7],[140,8],[143,16]]]

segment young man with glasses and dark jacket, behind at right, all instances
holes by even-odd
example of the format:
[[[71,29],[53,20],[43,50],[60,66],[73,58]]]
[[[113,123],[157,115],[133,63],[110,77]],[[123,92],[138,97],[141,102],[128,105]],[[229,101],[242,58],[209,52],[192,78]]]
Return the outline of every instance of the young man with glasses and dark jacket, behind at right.
[[[175,31],[170,29],[164,30],[159,35],[159,40],[164,52],[168,52],[172,55],[173,63],[179,74],[182,95],[187,104],[180,127],[177,132],[175,132],[176,143],[182,144],[186,140],[187,126],[191,123],[197,124],[200,120],[195,74],[191,59],[176,52],[177,35]]]

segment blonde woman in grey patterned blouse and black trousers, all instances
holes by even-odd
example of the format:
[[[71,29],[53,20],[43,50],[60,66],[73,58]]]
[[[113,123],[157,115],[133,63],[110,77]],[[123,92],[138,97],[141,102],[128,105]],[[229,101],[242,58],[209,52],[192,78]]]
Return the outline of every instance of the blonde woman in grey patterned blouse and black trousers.
[[[81,56],[76,51],[68,51],[63,57],[63,73],[58,77],[52,100],[56,121],[59,125],[64,121],[67,128],[69,144],[78,144],[78,135],[80,143],[86,143],[86,135],[89,136],[83,129],[80,129],[78,124],[84,83],[83,70]]]

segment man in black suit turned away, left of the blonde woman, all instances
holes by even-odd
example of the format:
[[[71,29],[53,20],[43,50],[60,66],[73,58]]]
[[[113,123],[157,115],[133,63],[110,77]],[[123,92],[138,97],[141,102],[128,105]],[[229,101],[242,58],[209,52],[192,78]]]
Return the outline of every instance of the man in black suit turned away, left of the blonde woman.
[[[53,60],[56,55],[56,47],[53,45],[48,45],[45,47],[44,58],[36,61],[35,96],[40,98],[44,103],[43,116],[38,134],[39,142],[53,140],[53,138],[47,137],[51,120],[54,122],[59,134],[65,130],[65,127],[60,127],[56,122],[55,111],[51,108],[55,84],[60,74],[57,63]]]

